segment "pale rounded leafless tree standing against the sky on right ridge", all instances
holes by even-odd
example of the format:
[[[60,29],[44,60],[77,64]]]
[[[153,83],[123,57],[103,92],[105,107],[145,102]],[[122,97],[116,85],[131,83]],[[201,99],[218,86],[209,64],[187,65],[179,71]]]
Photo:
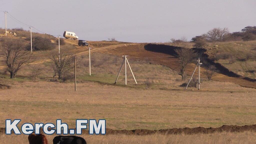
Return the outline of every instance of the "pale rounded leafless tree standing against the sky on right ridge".
[[[217,41],[222,40],[225,35],[229,34],[228,28],[214,28],[207,32],[209,40]]]

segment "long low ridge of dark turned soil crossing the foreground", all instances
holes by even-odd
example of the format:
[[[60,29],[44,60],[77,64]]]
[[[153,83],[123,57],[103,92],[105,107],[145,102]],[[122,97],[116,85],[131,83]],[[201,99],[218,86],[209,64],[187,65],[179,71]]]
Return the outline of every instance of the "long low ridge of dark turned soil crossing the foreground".
[[[42,132],[42,130],[40,130]],[[173,129],[161,129],[161,130],[147,130],[147,129],[135,129],[135,130],[112,130],[106,129],[107,135],[152,135],[155,133],[158,134],[197,134],[197,133],[214,133],[214,132],[244,132],[244,131],[253,131],[256,132],[256,125],[245,125],[245,126],[228,126],[223,125],[218,128],[204,128],[204,127],[196,127],[196,128],[173,128]],[[5,133],[5,128],[0,128],[0,134]],[[82,133],[89,134],[88,130],[82,130]]]

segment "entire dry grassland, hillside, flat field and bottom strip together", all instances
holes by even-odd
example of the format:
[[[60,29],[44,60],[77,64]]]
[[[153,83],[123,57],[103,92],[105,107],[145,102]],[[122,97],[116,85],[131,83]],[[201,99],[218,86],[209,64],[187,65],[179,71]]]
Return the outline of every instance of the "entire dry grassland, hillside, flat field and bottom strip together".
[[[20,33],[20,37],[27,37],[28,34],[29,32]],[[159,130],[255,124],[256,89],[254,88],[256,84],[254,82],[223,74],[216,74],[213,80],[208,81],[203,73],[205,69],[202,68],[201,89],[190,87],[184,90],[179,85],[188,81],[188,77],[194,70],[194,64],[190,65],[187,70],[188,77],[182,81],[176,71],[177,58],[147,51],[144,49],[145,44],[107,41],[89,42],[92,47],[92,76],[89,76],[88,47],[78,46],[77,40],[65,39],[65,42],[66,44],[61,46],[61,52],[77,55],[77,91],[74,91],[73,80],[52,82],[54,73],[46,65],[52,51],[34,52],[38,57],[36,62],[24,65],[15,79],[9,79],[4,65],[1,65],[0,83],[11,87],[0,89],[0,128],[5,127],[5,119],[22,119],[21,123],[55,123],[56,119],[62,119],[69,124],[69,128],[75,128],[76,119],[80,118],[106,119],[106,128],[114,130]],[[253,43],[246,44],[248,45],[244,49],[254,46]],[[218,45],[217,48],[212,48],[213,45],[207,48],[210,56],[228,52],[233,47],[233,44],[227,48],[226,44]],[[175,44],[175,46],[191,48],[193,43]],[[53,49],[55,50],[57,49]],[[124,54],[130,55],[128,59],[138,85],[134,85],[132,75],[127,69],[128,85],[124,86],[124,68],[118,83],[113,84]],[[226,63],[222,60],[217,62],[223,62],[223,65]],[[227,64],[227,67],[233,70],[240,65],[238,63],[240,62]],[[255,62],[252,61],[252,64]],[[32,76],[33,70],[37,71],[35,77]],[[241,73],[243,71],[246,70],[240,70]],[[235,72],[238,73],[239,70]],[[247,74],[241,75],[249,76]],[[198,74],[195,74],[195,77],[197,76]],[[146,136],[83,134],[82,137],[88,143],[200,144],[255,143],[255,135],[255,132],[222,132]],[[49,143],[54,136],[47,136]],[[27,135],[0,134],[0,139],[4,144],[28,143]]]

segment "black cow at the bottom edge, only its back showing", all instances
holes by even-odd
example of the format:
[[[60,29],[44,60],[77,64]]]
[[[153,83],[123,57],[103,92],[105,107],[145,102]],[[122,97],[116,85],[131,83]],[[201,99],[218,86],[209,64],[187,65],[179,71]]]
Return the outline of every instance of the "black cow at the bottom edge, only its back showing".
[[[86,141],[77,136],[57,136],[53,139],[53,144],[86,144]]]

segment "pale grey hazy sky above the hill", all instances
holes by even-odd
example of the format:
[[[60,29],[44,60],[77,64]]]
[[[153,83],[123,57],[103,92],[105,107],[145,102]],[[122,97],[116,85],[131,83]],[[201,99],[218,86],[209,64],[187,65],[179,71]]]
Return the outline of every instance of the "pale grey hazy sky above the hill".
[[[8,0],[0,2],[0,27],[5,28],[3,11],[41,32],[70,31],[83,40],[169,42],[215,27],[237,32],[256,25],[255,0]],[[9,15],[7,28],[28,30]]]

